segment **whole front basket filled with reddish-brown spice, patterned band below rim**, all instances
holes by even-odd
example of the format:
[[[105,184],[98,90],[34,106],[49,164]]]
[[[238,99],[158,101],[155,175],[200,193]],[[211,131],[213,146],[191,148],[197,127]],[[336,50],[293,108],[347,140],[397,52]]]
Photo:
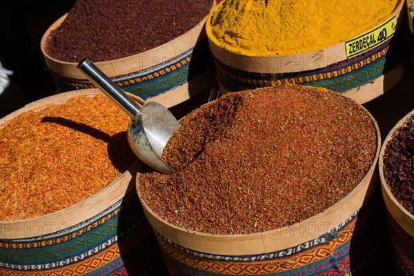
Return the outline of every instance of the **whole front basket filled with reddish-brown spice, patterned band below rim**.
[[[375,275],[386,244],[380,133],[352,99],[287,85],[181,119],[137,193],[172,275]]]

